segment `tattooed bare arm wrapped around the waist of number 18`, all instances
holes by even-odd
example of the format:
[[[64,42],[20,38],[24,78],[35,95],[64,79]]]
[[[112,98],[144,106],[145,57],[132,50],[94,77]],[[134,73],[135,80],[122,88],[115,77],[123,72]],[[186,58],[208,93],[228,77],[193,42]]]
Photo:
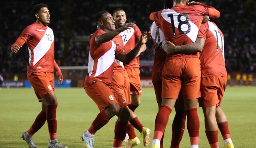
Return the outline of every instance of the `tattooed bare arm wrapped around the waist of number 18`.
[[[168,55],[174,54],[174,53],[192,54],[192,53],[197,53],[202,51],[204,47],[204,42],[205,42],[205,39],[202,37],[197,37],[195,43],[190,43],[190,44],[180,45],[180,46],[176,46],[172,42],[167,41],[169,46],[163,47],[163,49]]]

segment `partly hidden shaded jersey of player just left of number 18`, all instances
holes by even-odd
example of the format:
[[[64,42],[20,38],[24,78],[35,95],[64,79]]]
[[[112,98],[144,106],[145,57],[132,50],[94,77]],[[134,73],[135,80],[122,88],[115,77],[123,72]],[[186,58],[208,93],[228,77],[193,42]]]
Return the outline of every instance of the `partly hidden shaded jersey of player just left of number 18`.
[[[164,37],[164,32],[162,32],[162,30],[156,25],[156,22],[152,23],[150,32],[155,47],[155,60],[152,73],[161,73],[166,60],[166,52],[162,49],[162,46],[166,45],[166,39]]]

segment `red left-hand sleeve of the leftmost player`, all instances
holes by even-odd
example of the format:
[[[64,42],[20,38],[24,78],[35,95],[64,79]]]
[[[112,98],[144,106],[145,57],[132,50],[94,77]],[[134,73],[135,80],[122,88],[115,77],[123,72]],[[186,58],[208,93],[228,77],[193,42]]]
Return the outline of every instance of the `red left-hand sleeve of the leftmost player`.
[[[20,36],[18,37],[18,39],[15,41],[15,43],[12,45],[12,47],[14,45],[18,45],[18,46],[22,46],[24,45],[24,43],[26,43],[26,41],[28,39],[30,39],[33,34],[34,34],[34,28],[32,26],[27,26],[22,33],[20,34]]]

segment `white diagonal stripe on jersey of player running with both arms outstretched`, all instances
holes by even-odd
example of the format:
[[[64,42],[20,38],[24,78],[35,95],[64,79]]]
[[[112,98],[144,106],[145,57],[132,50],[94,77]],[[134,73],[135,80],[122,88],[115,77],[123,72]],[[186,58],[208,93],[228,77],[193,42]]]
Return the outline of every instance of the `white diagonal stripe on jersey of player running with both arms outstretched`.
[[[97,70],[94,77],[104,73],[114,62],[115,60],[115,52],[116,52],[116,44],[114,41],[112,42],[112,47],[98,59]]]

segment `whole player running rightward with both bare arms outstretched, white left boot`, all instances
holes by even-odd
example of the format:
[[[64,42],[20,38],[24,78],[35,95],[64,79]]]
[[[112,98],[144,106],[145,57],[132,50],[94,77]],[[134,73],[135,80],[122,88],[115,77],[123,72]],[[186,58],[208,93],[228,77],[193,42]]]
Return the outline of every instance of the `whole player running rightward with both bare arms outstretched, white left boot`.
[[[150,33],[145,32],[140,36],[134,49],[125,54],[112,39],[129,27],[134,27],[135,24],[126,23],[121,28],[116,29],[113,17],[107,11],[100,11],[96,14],[96,23],[99,29],[90,38],[88,74],[84,81],[84,89],[96,103],[100,113],[90,128],[82,133],[81,138],[86,148],[93,148],[94,134],[110,118],[117,115],[113,148],[120,148],[128,128],[130,113],[126,100],[112,86],[114,59],[116,58],[126,64],[130,63],[138,54],[140,47],[148,41]]]

